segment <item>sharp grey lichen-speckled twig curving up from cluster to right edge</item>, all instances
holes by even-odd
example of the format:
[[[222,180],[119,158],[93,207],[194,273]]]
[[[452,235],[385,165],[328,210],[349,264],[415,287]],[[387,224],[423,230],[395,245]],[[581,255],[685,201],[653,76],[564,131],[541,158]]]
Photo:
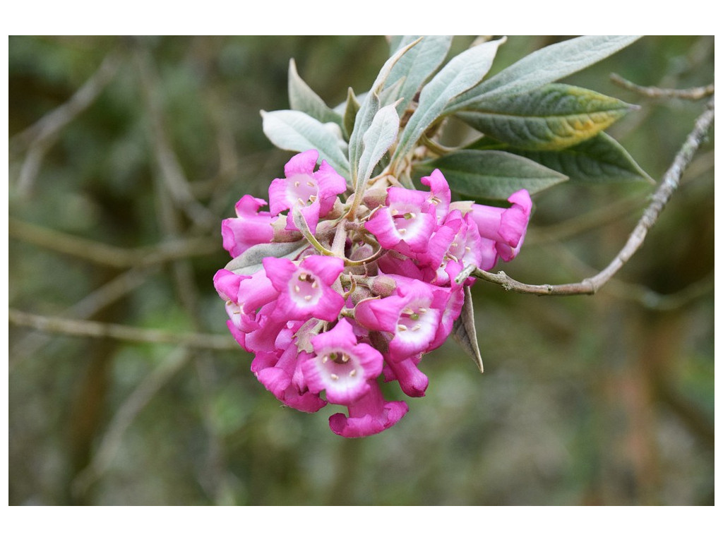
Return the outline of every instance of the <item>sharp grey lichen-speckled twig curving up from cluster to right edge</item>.
[[[643,212],[643,216],[638,221],[638,225],[636,225],[633,233],[630,233],[628,242],[625,243],[625,246],[618,252],[617,256],[612,259],[612,262],[597,275],[586,278],[579,283],[532,285],[514,280],[508,277],[504,271],[490,273],[476,269],[474,265],[470,265],[456,278],[456,281],[462,283],[467,277],[473,276],[487,280],[487,282],[490,283],[499,284],[506,291],[533,293],[536,296],[576,296],[595,293],[602,288],[602,286],[620,270],[620,267],[623,267],[625,262],[628,262],[630,257],[641,247],[649,229],[656,223],[663,207],[665,207],[673,192],[677,189],[686,166],[690,163],[690,160],[693,159],[693,155],[696,153],[696,150],[698,150],[698,147],[700,147],[703,139],[705,139],[713,123],[714,116],[714,98],[711,98],[706,106],[706,111],[703,111],[701,116],[696,119],[693,131],[688,134],[685,143],[683,143],[683,146],[680,147],[677,155],[675,155],[675,160],[673,160],[672,165],[663,177],[662,183],[651,197],[651,202],[645,212]]]

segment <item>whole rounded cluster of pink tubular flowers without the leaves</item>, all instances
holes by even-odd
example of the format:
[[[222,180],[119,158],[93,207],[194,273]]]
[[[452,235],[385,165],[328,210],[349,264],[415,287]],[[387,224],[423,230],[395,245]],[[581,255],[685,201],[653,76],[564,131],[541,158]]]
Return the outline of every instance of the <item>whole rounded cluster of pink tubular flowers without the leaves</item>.
[[[531,199],[521,190],[508,208],[452,202],[435,170],[422,178],[428,191],[388,186],[352,205],[339,198],[346,180],[325,161],[316,169],[318,158],[315,150],[291,158],[285,177],[270,185],[269,211],[247,195],[221,226],[234,258],[262,244],[307,239],[308,246],[264,257],[248,275],[219,270],[213,283],[228,329],[254,353],[253,373],[281,403],[305,412],[343,405],[348,415],[333,414],[332,431],[367,436],[408,411],[404,401],[385,400],[380,382],[424,395],[429,381],[419,361],[448,337],[463,286],[474,282],[455,277],[469,264],[489,270],[498,257],[516,256]]]

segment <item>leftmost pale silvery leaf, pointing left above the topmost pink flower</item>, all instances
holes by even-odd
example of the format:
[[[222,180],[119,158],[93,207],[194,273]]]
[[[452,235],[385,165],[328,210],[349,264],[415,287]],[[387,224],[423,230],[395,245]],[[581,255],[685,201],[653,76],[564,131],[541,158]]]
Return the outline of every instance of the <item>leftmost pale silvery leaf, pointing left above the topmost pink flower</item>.
[[[346,143],[338,126],[322,124],[307,113],[288,109],[261,111],[261,116],[264,134],[276,147],[296,152],[316,149],[320,158],[326,160],[339,175],[349,178],[349,162],[342,150]],[[336,132],[333,126],[336,126]]]

